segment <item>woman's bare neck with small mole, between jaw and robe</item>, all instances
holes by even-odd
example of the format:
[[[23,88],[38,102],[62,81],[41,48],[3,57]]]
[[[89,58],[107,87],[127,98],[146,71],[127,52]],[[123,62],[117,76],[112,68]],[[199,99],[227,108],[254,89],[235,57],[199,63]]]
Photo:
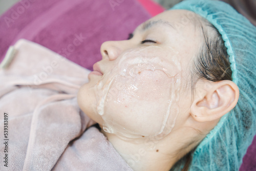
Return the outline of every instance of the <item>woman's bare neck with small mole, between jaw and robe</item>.
[[[141,137],[135,141],[127,141],[115,134],[101,132],[115,147],[120,156],[134,170],[169,170],[178,160],[174,152],[166,149],[166,140]],[[173,144],[175,146],[175,144]],[[170,141],[168,141],[168,146]]]

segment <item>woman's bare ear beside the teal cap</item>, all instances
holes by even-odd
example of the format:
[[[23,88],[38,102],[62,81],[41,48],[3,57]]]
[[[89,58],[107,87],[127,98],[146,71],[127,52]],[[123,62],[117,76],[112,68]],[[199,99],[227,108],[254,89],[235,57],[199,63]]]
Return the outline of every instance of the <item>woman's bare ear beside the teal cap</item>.
[[[199,86],[200,87],[200,86]],[[197,91],[198,87],[195,91]],[[191,116],[199,122],[213,121],[221,118],[236,106],[239,98],[237,85],[230,80],[210,82],[209,88],[201,89],[190,108]]]

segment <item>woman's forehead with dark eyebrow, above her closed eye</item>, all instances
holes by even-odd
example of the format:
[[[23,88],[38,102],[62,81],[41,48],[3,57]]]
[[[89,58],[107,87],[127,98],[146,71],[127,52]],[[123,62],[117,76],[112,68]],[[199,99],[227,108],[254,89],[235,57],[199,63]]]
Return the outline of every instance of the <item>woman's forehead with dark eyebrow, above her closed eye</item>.
[[[188,10],[168,10],[142,23],[134,34],[144,35],[148,31],[154,31],[156,35],[165,35],[166,38],[178,40],[177,43],[189,44],[190,41],[194,41],[195,44],[196,41],[200,44],[203,37],[200,26],[198,14]]]

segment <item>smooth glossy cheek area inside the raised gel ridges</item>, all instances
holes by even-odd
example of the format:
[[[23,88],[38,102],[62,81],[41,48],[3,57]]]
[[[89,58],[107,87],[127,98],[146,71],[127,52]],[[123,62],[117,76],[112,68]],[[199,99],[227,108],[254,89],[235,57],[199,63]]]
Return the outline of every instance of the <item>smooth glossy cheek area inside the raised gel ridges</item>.
[[[104,101],[104,131],[125,137],[161,134],[174,91],[174,77],[161,70],[115,77]]]

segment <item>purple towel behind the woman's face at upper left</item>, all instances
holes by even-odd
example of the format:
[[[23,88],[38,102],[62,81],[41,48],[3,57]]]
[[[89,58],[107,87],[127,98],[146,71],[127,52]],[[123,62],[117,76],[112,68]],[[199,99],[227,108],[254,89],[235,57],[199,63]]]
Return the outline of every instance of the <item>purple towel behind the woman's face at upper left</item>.
[[[137,0],[118,1],[114,5],[110,2],[18,2],[0,17],[0,61],[9,46],[25,38],[92,70],[93,63],[101,59],[99,50],[104,41],[127,39],[129,33],[151,17]],[[74,42],[77,36],[81,39]]]

